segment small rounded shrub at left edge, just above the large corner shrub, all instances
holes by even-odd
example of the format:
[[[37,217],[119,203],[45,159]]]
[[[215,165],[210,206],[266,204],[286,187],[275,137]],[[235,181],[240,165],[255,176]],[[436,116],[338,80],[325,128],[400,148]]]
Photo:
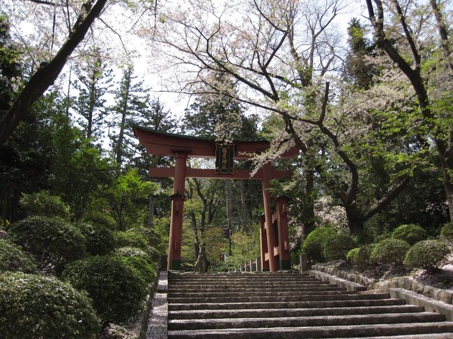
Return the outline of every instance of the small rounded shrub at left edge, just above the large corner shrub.
[[[29,253],[6,239],[0,239],[0,272],[35,273],[37,269],[36,260]]]

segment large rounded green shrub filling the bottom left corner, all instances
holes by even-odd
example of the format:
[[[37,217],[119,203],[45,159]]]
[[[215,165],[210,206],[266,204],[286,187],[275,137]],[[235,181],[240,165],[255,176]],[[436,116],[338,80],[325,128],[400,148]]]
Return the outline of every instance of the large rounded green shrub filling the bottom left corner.
[[[95,339],[99,331],[85,292],[56,278],[0,274],[1,338]]]

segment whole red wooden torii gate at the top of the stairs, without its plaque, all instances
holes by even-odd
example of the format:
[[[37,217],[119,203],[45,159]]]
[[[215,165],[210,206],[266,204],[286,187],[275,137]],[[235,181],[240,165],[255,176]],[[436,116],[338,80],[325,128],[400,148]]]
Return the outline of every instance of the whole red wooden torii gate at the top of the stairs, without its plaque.
[[[171,221],[168,249],[169,270],[181,269],[181,238],[183,230],[185,178],[220,178],[220,179],[254,179],[261,180],[263,185],[264,214],[261,216],[261,267],[263,271],[275,272],[279,269],[291,269],[289,257],[289,233],[286,198],[276,198],[277,212],[272,213],[272,198],[268,191],[272,179],[290,178],[291,171],[272,169],[266,163],[255,175],[248,170],[237,169],[234,173],[215,173],[213,169],[187,167],[187,158],[214,158],[215,140],[197,136],[170,134],[154,129],[135,126],[134,134],[141,145],[152,155],[171,156],[175,166],[169,168],[151,167],[148,175],[151,178],[174,178],[171,195]],[[247,160],[255,152],[267,150],[269,141],[241,139],[233,141],[233,159]],[[291,148],[279,158],[290,159],[298,154],[297,148]]]

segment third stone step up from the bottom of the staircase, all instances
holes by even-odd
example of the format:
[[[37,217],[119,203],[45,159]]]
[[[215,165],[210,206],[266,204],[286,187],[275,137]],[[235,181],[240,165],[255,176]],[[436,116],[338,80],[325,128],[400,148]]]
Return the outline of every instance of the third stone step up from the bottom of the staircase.
[[[171,320],[183,319],[222,319],[260,317],[316,317],[325,315],[364,315],[387,313],[423,312],[422,306],[358,306],[337,308],[283,308],[283,309],[238,309],[238,310],[170,310]]]

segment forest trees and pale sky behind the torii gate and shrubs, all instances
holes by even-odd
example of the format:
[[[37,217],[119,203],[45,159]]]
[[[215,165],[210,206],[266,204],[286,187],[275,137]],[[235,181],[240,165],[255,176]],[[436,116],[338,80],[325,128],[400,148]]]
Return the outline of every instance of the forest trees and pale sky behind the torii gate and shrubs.
[[[115,230],[153,223],[165,244],[171,180],[146,172],[173,159],[147,155],[134,124],[272,141],[242,168],[297,146],[297,159],[274,161],[293,179],[273,184],[290,198],[294,255],[326,224],[364,244],[406,223],[434,236],[452,218],[447,1],[362,1],[367,18],[351,19],[347,32],[335,18],[351,4],[339,0],[1,4],[5,225],[26,216],[21,199],[44,194],[59,197],[72,221],[112,219]],[[144,86],[132,34],[146,43],[159,90],[192,98],[183,112]],[[236,231],[229,265],[259,254],[260,182],[190,179],[186,187],[187,267],[201,241],[213,265],[225,265],[227,225]]]

